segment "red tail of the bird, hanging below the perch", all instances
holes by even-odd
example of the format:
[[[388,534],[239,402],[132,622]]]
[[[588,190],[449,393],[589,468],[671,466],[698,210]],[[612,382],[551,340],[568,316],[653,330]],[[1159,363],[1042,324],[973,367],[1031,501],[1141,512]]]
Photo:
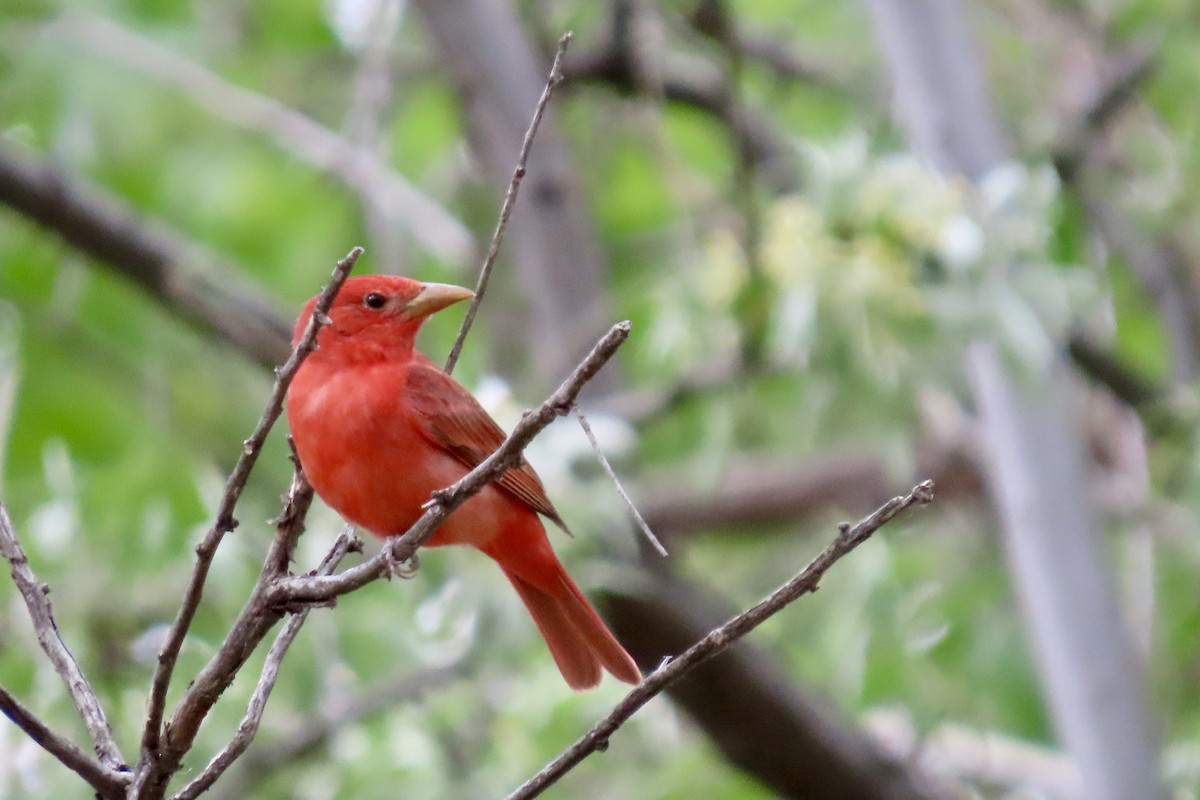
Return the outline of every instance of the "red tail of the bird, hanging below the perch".
[[[540,539],[541,546],[532,548],[533,553],[526,551],[527,558],[520,561],[511,553],[496,560],[529,609],[566,684],[574,690],[592,688],[600,682],[601,669],[626,684],[640,684],[642,673],[632,657],[566,575],[545,533]],[[530,564],[530,555],[536,564]]]

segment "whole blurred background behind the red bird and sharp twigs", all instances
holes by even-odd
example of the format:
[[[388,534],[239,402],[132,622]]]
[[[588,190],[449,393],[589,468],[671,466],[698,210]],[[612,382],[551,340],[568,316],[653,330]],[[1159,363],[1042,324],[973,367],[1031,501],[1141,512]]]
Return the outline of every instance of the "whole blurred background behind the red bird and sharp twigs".
[[[948,88],[922,106],[896,16],[935,31],[947,13],[965,22],[941,40]],[[650,668],[836,522],[924,477],[938,498],[548,796],[1102,796],[1007,557],[1010,498],[986,476],[1020,437],[980,416],[984,343],[1078,450],[1082,494],[1061,500],[1090,524],[1062,536],[1100,557],[1117,624],[1100,614],[1110,638],[1075,668],[1128,664],[1100,704],[1135,709],[1157,775],[1138,796],[1194,798],[1200,12],[1171,0],[4,4],[0,497],[126,752],[294,314],[354,245],[360,271],[474,284],[566,30],[456,374],[511,426],[632,320],[586,409],[671,557],[638,543],[572,420],[529,451],[618,634]],[[923,144],[938,103],[947,140],[984,155]],[[434,318],[425,351],[460,320]],[[176,680],[245,601],[289,476],[280,429]],[[314,509],[300,569],[340,524]],[[1052,566],[1070,591],[1078,565]],[[0,684],[83,742],[7,581],[0,642]],[[622,694],[571,693],[499,571],[431,552],[311,616],[211,796],[503,796]],[[86,794],[0,723],[0,798]]]

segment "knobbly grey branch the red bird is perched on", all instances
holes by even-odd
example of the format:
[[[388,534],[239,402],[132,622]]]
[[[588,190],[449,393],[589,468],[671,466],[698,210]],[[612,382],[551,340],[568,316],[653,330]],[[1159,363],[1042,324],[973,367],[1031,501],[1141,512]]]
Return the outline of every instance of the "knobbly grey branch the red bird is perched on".
[[[617,348],[629,337],[632,325],[629,321],[613,325],[558,390],[539,408],[524,415],[496,452],[457,483],[434,492],[426,504],[425,513],[413,523],[413,527],[403,536],[391,539],[376,557],[338,575],[281,578],[271,587],[271,600],[281,604],[323,602],[390,575],[396,564],[410,559],[416,549],[428,541],[455,509],[497,480],[505,470],[516,467],[520,463],[522,451],[533,441],[534,437],[541,433],[556,417],[570,413],[580,391],[617,353]]]

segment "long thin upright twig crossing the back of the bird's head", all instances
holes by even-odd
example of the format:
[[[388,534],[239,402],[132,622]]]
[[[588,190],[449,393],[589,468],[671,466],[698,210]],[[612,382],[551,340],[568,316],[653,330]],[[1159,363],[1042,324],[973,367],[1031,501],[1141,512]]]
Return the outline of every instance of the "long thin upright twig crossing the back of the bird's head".
[[[217,546],[221,543],[224,535],[238,525],[236,519],[233,517],[238,498],[241,497],[241,491],[246,486],[250,471],[254,468],[254,463],[258,461],[258,455],[262,451],[263,443],[266,440],[266,434],[270,433],[275,421],[283,411],[283,397],[287,393],[288,386],[292,384],[292,378],[295,375],[300,365],[308,356],[308,354],[316,348],[317,332],[328,320],[326,314],[334,302],[334,296],[337,294],[337,290],[341,289],[342,283],[346,282],[350,270],[354,269],[354,263],[358,261],[359,255],[361,254],[362,248],[355,247],[349,252],[349,254],[347,254],[346,258],[338,261],[337,266],[334,269],[334,275],[330,278],[329,285],[325,287],[324,291],[322,291],[317,305],[313,308],[312,319],[308,320],[308,327],[305,329],[304,336],[292,350],[292,355],[288,357],[287,362],[280,367],[276,373],[275,387],[271,390],[271,396],[266,402],[266,409],[263,411],[263,416],[258,420],[258,423],[254,426],[254,431],[251,433],[250,438],[242,443],[241,455],[238,457],[238,463],[234,465],[233,473],[230,473],[229,480],[226,482],[224,493],[222,494],[221,503],[217,507],[216,522],[212,528],[209,529],[208,534],[205,534],[200,545],[196,548],[196,567],[192,571],[191,581],[188,582],[187,590],[184,594],[184,602],[180,606],[179,615],[175,618],[175,621],[172,624],[170,630],[167,633],[167,639],[163,643],[162,650],[158,652],[158,663],[155,668],[154,679],[150,686],[146,723],[142,734],[142,760],[156,758],[158,741],[162,733],[162,715],[167,704],[167,688],[170,685],[175,661],[179,658],[179,651],[184,644],[184,637],[187,636],[187,630],[192,624],[192,618],[196,615],[196,609],[200,604],[200,596],[204,593],[204,582],[208,579],[209,567],[212,564],[212,558],[216,554]]]

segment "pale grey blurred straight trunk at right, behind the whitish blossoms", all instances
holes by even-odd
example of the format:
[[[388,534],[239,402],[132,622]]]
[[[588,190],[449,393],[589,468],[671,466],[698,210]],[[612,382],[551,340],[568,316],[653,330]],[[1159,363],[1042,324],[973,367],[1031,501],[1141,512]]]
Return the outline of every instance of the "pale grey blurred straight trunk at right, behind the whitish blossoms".
[[[913,150],[972,180],[1009,154],[956,0],[871,0]],[[992,495],[1055,721],[1093,800],[1165,798],[1145,678],[1084,486],[1061,360],[1014,375],[991,343],[966,355]]]

